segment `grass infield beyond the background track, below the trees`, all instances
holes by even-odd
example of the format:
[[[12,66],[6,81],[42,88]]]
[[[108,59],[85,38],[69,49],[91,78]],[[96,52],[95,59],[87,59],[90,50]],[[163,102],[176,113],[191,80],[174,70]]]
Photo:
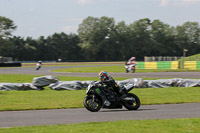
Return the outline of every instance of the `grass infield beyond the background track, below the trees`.
[[[96,65],[107,65],[96,67]],[[23,67],[35,67],[35,63],[23,63]],[[74,68],[65,68],[65,69],[55,69],[52,72],[84,72],[92,73],[100,71],[108,72],[125,72],[124,62],[55,62],[55,63],[43,63],[45,66],[90,66],[90,67],[74,67]],[[187,71],[200,71],[200,70],[189,70],[189,69],[138,69],[136,68],[137,73],[141,72],[187,72]]]

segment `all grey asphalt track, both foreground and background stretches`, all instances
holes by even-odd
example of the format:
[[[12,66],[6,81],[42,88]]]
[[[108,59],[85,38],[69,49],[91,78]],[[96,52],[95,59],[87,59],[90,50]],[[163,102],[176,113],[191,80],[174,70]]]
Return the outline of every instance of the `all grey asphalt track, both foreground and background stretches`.
[[[97,77],[98,73],[53,73],[52,69],[72,66],[42,67],[36,71],[34,67],[0,68],[0,73],[54,75],[73,77]],[[77,67],[77,66],[75,66]],[[80,67],[80,66],[79,66]],[[84,66],[86,67],[86,66]],[[200,72],[160,72],[160,73],[110,73],[114,77],[131,78],[200,78]],[[54,125],[82,122],[100,122],[139,119],[171,119],[200,117],[200,103],[143,105],[136,111],[126,109],[89,112],[86,109],[55,109],[29,111],[0,112],[0,127]]]

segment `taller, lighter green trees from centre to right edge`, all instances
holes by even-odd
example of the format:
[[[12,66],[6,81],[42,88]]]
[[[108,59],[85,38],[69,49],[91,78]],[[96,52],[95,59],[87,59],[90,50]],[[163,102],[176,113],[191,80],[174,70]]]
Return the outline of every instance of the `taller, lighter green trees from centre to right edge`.
[[[199,51],[198,23],[173,27],[160,20],[140,19],[129,25],[113,18],[88,17],[79,25],[81,48],[86,60],[126,60],[131,56],[182,56]],[[192,49],[195,48],[195,49]]]

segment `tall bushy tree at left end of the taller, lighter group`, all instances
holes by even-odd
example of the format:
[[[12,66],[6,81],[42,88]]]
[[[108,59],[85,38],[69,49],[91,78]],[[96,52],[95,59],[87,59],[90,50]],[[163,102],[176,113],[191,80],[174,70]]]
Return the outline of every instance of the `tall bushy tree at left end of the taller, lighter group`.
[[[78,35],[86,60],[109,60],[115,26],[113,18],[88,17],[79,25]]]

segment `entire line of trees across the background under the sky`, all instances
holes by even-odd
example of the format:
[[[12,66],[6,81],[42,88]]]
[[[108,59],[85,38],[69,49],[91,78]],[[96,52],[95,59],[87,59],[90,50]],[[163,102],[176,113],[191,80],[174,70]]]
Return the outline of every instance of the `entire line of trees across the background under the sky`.
[[[133,23],[116,23],[111,17],[87,17],[77,34],[54,33],[48,37],[12,36],[17,26],[0,16],[0,56],[15,61],[124,61],[132,56],[183,56],[200,51],[198,22],[170,26],[160,20],[144,18]]]

